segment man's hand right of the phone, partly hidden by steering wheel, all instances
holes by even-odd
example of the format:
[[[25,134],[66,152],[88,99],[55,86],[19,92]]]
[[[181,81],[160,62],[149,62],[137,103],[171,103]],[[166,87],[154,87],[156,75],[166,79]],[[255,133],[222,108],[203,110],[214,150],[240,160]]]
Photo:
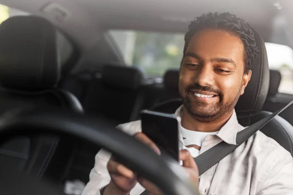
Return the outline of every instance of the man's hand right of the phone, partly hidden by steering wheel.
[[[198,168],[193,157],[189,154],[187,150],[182,150],[180,151],[179,158],[183,161],[183,166],[188,172],[190,179],[196,186],[198,186]],[[146,188],[146,191],[150,195],[164,195],[162,191],[150,181],[140,177],[137,178],[137,180],[144,188]]]

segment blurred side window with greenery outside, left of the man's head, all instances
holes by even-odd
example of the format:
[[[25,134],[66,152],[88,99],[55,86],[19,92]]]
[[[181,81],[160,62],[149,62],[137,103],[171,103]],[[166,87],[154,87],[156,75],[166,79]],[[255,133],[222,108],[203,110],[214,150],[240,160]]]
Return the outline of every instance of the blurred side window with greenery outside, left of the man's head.
[[[126,65],[138,66],[149,76],[162,76],[169,68],[179,68],[184,35],[131,30],[111,30]]]

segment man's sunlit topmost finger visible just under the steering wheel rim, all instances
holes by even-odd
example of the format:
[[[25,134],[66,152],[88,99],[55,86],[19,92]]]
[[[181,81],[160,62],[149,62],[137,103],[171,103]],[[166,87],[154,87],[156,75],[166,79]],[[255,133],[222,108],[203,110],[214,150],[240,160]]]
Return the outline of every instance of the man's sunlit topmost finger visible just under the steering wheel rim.
[[[123,164],[120,164],[111,158],[107,164],[107,169],[109,174],[125,176],[129,179],[132,179],[135,175],[134,173],[126,168]]]

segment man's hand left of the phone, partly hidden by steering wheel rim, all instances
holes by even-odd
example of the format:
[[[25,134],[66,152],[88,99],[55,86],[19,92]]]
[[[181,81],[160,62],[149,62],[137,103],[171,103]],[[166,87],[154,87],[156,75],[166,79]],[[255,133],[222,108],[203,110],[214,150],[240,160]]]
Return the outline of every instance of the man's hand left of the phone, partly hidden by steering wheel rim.
[[[145,134],[137,133],[134,137],[146,144],[157,154],[160,154],[158,147]],[[111,176],[111,182],[105,187],[103,195],[129,195],[130,191],[137,184],[135,174],[124,165],[116,162],[114,158],[109,160],[107,169]]]

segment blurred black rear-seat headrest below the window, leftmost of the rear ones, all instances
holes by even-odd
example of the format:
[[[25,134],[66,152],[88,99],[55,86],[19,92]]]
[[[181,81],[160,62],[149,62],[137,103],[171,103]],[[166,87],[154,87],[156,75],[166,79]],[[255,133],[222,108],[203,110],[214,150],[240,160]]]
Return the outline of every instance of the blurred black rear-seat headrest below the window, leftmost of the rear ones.
[[[117,88],[136,90],[143,78],[143,72],[134,67],[105,65],[102,70],[103,82]]]

